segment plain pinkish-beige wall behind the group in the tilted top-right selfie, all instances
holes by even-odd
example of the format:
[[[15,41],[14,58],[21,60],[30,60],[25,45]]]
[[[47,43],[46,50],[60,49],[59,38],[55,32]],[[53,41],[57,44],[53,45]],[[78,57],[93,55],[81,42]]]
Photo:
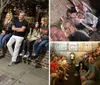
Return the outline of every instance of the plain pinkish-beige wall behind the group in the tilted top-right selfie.
[[[67,0],[51,0],[50,21],[51,24],[57,22],[61,16],[66,14]]]

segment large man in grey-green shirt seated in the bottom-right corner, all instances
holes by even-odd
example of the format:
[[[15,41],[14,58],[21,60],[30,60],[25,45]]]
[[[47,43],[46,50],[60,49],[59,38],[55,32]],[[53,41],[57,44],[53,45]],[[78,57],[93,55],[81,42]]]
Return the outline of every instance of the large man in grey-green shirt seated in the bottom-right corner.
[[[94,64],[94,59],[89,57],[89,70],[84,77],[82,77],[82,85],[98,85],[100,83],[100,71]]]

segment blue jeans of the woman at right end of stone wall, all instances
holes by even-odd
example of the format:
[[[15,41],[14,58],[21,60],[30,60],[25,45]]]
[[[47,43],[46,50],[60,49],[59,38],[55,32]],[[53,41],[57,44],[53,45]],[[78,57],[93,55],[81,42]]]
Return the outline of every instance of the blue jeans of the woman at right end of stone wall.
[[[42,49],[43,46],[46,45],[46,43],[48,43],[48,40],[43,40],[42,42],[38,42],[38,40],[36,40],[34,42],[34,53],[36,54],[36,56],[38,56],[40,50]]]

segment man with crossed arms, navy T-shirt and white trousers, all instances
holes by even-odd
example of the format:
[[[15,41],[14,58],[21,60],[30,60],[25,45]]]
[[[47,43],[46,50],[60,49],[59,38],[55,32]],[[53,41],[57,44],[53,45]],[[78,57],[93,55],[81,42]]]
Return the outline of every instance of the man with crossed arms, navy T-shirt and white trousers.
[[[8,50],[12,56],[11,62],[8,64],[8,66],[15,65],[20,50],[20,46],[22,44],[22,41],[24,40],[25,30],[27,28],[27,22],[25,21],[24,17],[25,13],[21,12],[19,14],[18,19],[14,20],[14,24],[12,26],[12,30],[14,31],[14,33],[7,43]],[[13,50],[12,45],[14,43],[15,48]]]

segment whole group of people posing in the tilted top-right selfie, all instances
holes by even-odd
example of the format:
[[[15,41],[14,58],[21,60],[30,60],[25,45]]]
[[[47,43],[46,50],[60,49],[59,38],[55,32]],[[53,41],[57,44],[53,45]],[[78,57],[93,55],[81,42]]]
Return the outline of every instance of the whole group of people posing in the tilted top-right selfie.
[[[51,41],[99,41],[99,17],[83,0],[68,1],[60,26],[51,25]]]

